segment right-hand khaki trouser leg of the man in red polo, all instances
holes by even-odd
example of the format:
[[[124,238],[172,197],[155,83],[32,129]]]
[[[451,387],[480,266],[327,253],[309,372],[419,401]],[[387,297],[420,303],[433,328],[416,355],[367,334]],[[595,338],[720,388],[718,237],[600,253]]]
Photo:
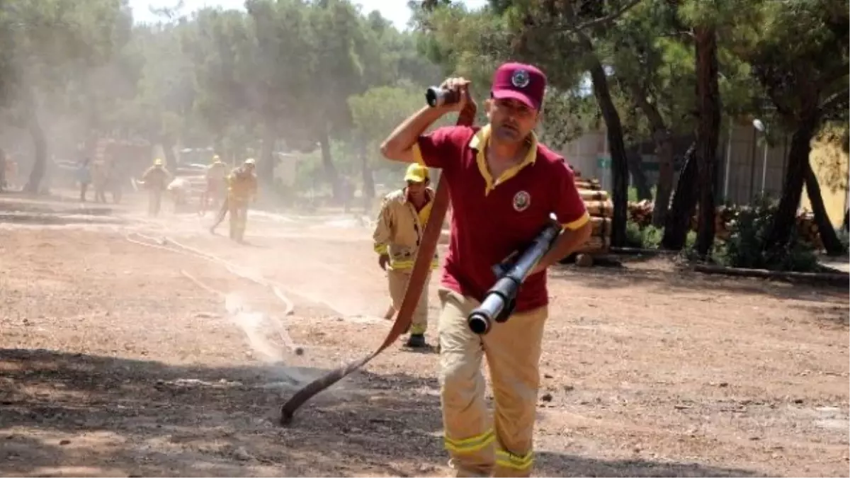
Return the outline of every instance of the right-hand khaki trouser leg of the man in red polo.
[[[496,478],[530,476],[547,307],[513,314],[484,336],[495,403]]]

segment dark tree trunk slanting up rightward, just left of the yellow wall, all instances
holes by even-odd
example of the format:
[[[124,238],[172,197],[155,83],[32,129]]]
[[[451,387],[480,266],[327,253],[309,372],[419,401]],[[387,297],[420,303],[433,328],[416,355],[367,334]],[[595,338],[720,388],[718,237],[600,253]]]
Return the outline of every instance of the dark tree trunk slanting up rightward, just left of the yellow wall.
[[[806,169],[809,168],[808,155],[812,152],[812,138],[819,124],[816,114],[806,115],[797,123],[797,128],[791,135],[782,198],[779,199],[779,207],[774,215],[774,224],[768,233],[765,249],[781,248],[791,241],[791,230],[796,222],[796,212],[802,197],[802,185],[806,179]]]

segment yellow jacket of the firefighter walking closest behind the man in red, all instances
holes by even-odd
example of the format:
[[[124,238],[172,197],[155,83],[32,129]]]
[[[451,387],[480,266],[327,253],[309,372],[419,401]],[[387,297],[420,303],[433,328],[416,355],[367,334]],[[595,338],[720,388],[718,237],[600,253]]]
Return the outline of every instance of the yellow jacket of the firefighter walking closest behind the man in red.
[[[407,192],[404,189],[384,196],[372,239],[375,241],[375,252],[389,256],[390,269],[413,268],[416,251],[419,250],[422,233],[425,232],[425,224],[431,214],[433,190],[430,188],[428,188],[428,196],[432,198],[432,201],[418,213],[413,204],[407,201]],[[434,253],[431,269],[436,269],[438,266],[439,259],[437,253]]]

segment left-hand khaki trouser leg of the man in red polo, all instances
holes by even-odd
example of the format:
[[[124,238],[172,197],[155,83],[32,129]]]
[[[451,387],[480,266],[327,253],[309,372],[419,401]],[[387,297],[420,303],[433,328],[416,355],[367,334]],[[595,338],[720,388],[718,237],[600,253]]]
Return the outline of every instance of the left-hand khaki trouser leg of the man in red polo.
[[[439,291],[439,384],[445,448],[457,476],[488,476],[496,461],[493,430],[484,403],[481,339],[469,330],[476,303]]]

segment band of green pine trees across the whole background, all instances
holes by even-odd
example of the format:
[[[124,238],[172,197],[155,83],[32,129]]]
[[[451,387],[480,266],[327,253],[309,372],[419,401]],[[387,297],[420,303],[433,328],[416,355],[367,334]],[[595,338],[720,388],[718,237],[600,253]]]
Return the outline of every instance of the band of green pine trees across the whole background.
[[[258,155],[267,180],[276,151],[315,155],[335,196],[355,171],[371,194],[373,171],[393,168],[377,161],[378,145],[422,105],[424,88],[462,75],[484,98],[496,65],[526,60],[550,82],[542,139],[558,148],[589,130],[607,135],[615,245],[631,185],[654,200],[666,246],[683,246],[696,202],[716,201],[722,154],[712,151],[724,124],[761,117],[774,125],[768,140],[791,135],[765,246],[774,248],[789,240],[803,185],[818,191],[811,140],[850,119],[847,2],[409,5],[413,29],[399,31],[348,0],[246,0],[240,10],[163,11],[152,24],[134,23],[125,0],[0,0],[0,124],[31,137],[31,191],[50,153],[90,156],[96,139],[117,136],[162,145],[171,163],[179,147],[212,147],[231,161]],[[694,141],[694,169],[685,171],[676,159]],[[658,157],[655,191],[641,145]],[[818,197],[813,208],[823,230]],[[709,216],[700,220],[709,227]],[[706,236],[700,251],[710,247]]]

